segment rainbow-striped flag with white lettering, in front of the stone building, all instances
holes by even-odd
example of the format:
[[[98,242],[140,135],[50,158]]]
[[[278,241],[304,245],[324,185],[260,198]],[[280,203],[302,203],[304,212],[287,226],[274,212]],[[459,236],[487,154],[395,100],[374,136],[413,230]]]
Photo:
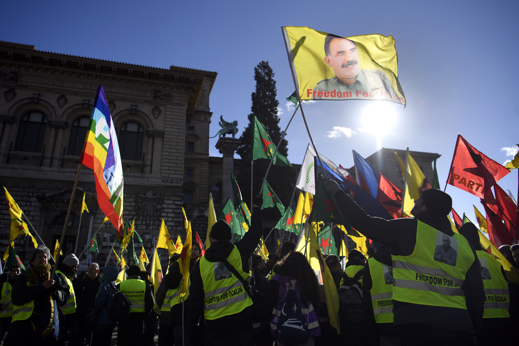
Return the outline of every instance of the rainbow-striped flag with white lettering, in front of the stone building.
[[[102,86],[98,86],[81,163],[95,175],[99,207],[122,236],[122,167],[119,143]]]

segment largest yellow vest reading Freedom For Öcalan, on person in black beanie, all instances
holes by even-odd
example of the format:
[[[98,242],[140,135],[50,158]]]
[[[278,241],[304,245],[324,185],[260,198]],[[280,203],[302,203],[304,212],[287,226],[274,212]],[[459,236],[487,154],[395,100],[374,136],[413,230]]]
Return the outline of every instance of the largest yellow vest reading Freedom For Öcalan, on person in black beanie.
[[[461,286],[475,258],[465,237],[449,237],[456,251],[455,265],[434,259],[446,234],[418,221],[416,245],[409,256],[393,259],[393,300],[437,307],[467,309]]]

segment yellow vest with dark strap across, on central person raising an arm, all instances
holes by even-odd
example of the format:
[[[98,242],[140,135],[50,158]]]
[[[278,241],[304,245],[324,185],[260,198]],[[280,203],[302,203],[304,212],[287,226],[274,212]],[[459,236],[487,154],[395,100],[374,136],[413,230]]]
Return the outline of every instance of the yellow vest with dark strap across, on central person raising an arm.
[[[240,252],[236,245],[227,257],[229,263],[247,280],[251,272],[243,271]],[[200,259],[200,274],[204,292],[204,317],[216,320],[233,315],[252,305],[252,299],[236,276],[221,262],[210,262],[206,257]]]

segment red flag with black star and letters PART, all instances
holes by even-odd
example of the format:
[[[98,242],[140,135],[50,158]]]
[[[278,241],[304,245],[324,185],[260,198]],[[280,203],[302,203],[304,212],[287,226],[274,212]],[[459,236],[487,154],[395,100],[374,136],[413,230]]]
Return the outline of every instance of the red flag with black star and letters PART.
[[[484,198],[485,192],[510,173],[503,165],[488,158],[458,135],[447,182]]]

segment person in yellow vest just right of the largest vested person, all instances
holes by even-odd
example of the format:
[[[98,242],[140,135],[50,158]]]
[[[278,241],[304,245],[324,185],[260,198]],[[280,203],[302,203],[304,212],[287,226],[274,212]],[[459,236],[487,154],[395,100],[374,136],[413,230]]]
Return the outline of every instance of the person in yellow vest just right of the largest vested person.
[[[483,251],[476,226],[470,222],[466,223],[460,227],[459,234],[467,238],[476,250],[485,288],[483,328],[477,335],[477,344],[513,344],[513,333],[506,332],[506,330],[512,329],[512,321],[508,311],[510,308],[509,285],[503,268],[494,255]]]

